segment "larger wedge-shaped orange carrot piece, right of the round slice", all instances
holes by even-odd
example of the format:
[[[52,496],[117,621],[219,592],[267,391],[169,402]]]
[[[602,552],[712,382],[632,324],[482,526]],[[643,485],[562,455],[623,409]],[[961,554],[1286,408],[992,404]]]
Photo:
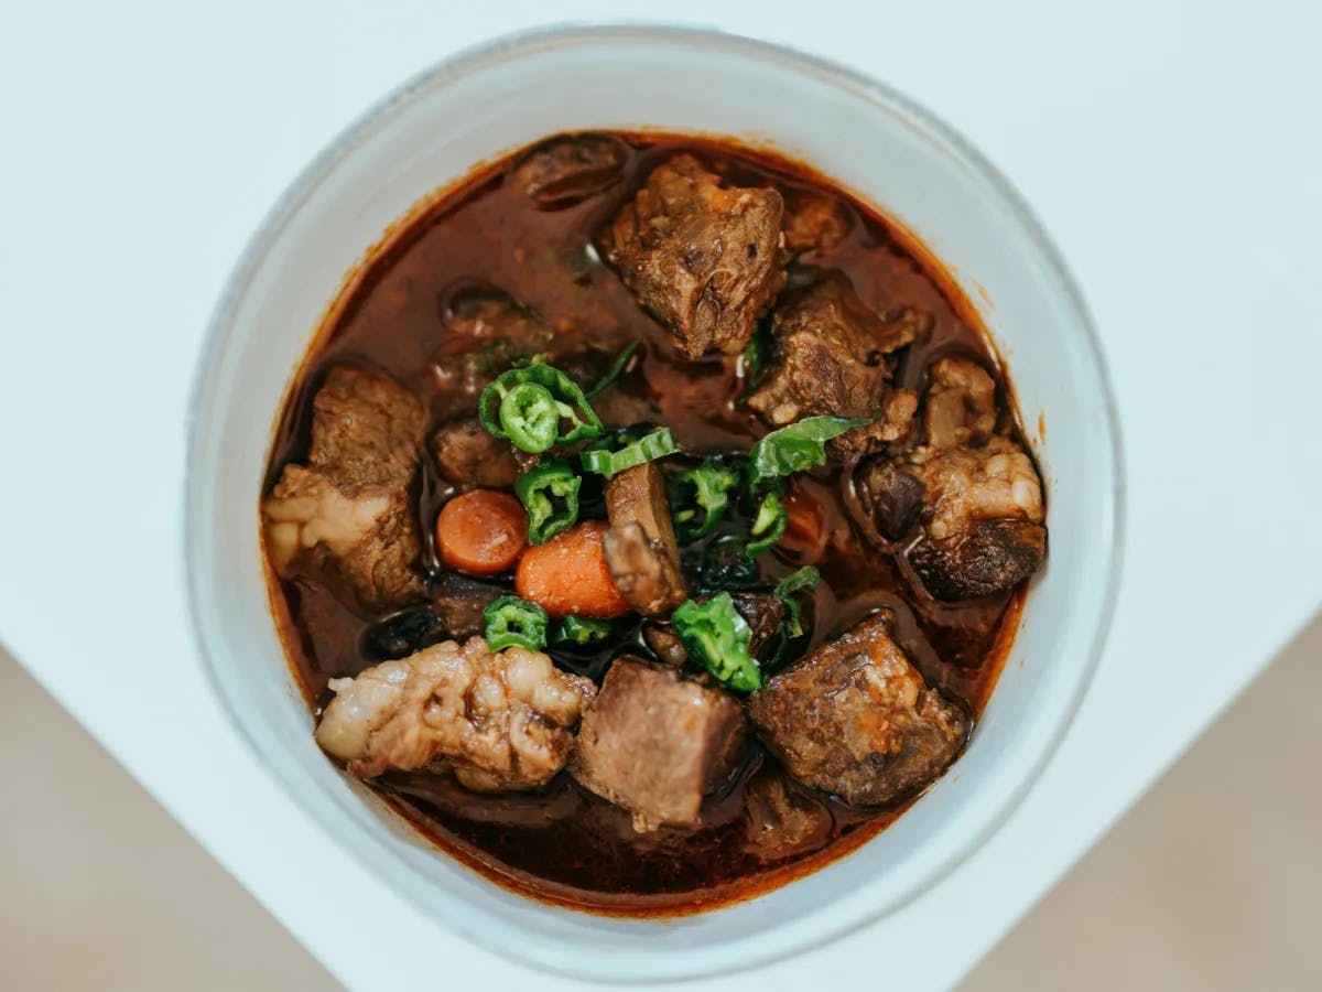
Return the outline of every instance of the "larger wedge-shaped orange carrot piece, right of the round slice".
[[[533,545],[518,562],[514,591],[551,616],[609,620],[629,611],[611,578],[602,550],[608,525],[586,520],[546,544]]]

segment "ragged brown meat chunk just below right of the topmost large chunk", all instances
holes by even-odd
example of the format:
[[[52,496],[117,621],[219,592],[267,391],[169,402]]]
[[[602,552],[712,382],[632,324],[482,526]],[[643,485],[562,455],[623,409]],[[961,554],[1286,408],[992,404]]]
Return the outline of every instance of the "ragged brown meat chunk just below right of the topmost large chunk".
[[[825,279],[776,310],[771,364],[748,406],[773,427],[822,414],[878,417],[832,442],[842,456],[896,440],[908,431],[917,398],[890,386],[888,356],[928,320],[914,310],[883,320],[842,276]]]

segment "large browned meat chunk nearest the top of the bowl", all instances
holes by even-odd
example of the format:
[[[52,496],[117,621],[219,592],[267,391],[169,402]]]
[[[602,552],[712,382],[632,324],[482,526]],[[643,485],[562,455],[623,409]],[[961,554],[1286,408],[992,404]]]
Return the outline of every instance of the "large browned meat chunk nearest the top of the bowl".
[[[690,358],[735,354],[785,284],[783,212],[775,189],[723,188],[676,155],[602,233],[602,254]]]

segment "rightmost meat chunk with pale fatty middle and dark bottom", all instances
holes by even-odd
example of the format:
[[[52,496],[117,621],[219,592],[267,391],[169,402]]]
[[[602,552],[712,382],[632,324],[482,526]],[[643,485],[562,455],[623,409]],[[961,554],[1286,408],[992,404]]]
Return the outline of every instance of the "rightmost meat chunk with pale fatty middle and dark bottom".
[[[927,444],[900,467],[923,487],[923,533],[910,562],[932,595],[970,599],[1011,589],[1047,552],[1042,480],[997,426],[995,385],[974,361],[928,373]]]

